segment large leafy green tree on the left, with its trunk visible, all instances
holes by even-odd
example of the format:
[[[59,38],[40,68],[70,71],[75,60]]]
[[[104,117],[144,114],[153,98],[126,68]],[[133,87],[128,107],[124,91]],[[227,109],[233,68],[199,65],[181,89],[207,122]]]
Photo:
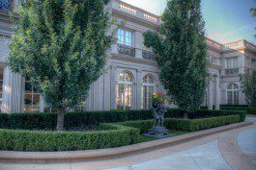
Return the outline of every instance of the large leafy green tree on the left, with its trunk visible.
[[[85,99],[99,79],[113,35],[108,0],[27,0],[10,44],[8,65],[30,79],[48,105],[64,113]]]

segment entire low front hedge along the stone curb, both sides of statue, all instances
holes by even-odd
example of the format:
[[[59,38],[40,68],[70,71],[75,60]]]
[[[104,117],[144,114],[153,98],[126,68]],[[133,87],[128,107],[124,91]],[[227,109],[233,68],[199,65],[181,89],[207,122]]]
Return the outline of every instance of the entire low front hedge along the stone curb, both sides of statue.
[[[203,119],[167,118],[168,129],[196,132],[240,121],[240,115]],[[95,132],[55,132],[0,130],[0,150],[52,152],[113,148],[134,144],[139,134],[146,133],[155,120],[101,123]]]

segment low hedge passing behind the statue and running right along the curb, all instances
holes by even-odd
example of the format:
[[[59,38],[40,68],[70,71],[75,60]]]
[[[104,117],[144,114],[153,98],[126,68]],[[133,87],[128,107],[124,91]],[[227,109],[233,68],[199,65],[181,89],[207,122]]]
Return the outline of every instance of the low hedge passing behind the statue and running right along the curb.
[[[167,118],[164,120],[164,126],[171,130],[180,130],[185,132],[197,132],[215,127],[229,125],[240,121],[240,115],[229,115],[220,117],[211,117],[203,119],[174,119]],[[141,120],[120,122],[119,125],[137,128],[140,134],[147,133],[154,125],[155,120]]]

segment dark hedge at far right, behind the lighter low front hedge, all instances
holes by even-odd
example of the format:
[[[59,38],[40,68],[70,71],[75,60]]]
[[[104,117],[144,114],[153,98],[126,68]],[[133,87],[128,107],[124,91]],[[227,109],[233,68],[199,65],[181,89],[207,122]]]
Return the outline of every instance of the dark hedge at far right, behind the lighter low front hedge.
[[[219,117],[227,115],[240,115],[240,122],[245,120],[246,111],[245,110],[209,110],[209,109],[200,109],[195,113],[190,113],[189,118],[198,119],[198,118],[207,118],[207,117]]]

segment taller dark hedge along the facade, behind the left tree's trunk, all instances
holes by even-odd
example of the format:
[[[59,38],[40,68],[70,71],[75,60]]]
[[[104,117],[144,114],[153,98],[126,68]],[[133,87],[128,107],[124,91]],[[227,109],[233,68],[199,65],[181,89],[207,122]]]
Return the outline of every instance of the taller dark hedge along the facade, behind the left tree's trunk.
[[[168,109],[166,117],[183,117],[181,109]],[[109,110],[68,112],[65,114],[65,128],[99,125],[100,123],[124,122],[152,119],[151,110]],[[56,113],[0,113],[0,128],[21,130],[54,130]]]

